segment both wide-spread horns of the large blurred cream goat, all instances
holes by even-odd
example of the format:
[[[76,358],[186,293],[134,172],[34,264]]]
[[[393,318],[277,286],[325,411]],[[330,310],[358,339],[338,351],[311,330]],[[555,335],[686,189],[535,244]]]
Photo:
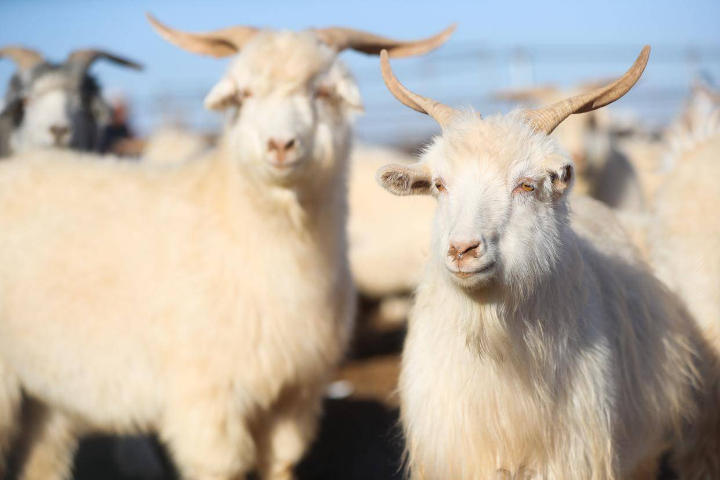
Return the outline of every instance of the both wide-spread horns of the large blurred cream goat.
[[[245,43],[260,31],[254,27],[236,26],[213,32],[189,33],[170,28],[149,13],[147,18],[155,31],[168,42],[189,52],[213,57],[226,57],[238,53]],[[350,28],[330,27],[312,31],[321,41],[338,52],[350,48],[377,55],[385,49],[391,56],[406,57],[422,55],[436,49],[450,38],[455,31],[455,25],[449,26],[437,35],[415,41],[393,40]]]

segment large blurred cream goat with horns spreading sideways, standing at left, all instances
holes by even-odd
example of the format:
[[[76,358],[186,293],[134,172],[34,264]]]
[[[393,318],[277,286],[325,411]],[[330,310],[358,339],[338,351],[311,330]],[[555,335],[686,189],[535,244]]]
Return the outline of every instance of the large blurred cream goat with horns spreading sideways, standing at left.
[[[353,48],[339,28],[166,39],[241,51],[208,97],[234,107],[212,158],[158,168],[30,152],[0,165],[0,445],[38,414],[23,478],[67,478],[79,435],[156,431],[184,478],[288,479],[316,430],[354,294],[345,177]],[[70,186],[70,187],[69,187]]]

